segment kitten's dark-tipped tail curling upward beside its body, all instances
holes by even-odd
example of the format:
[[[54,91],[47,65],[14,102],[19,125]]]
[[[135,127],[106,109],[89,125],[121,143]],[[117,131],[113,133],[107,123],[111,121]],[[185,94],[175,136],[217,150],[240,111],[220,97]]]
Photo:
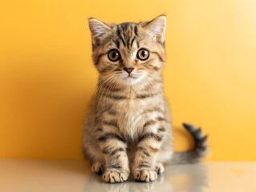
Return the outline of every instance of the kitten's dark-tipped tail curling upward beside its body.
[[[185,163],[196,163],[200,162],[201,158],[207,154],[207,137],[201,132],[200,128],[183,123],[183,126],[189,134],[192,135],[195,145],[192,150],[185,152],[175,152],[171,160],[171,164],[185,164]]]

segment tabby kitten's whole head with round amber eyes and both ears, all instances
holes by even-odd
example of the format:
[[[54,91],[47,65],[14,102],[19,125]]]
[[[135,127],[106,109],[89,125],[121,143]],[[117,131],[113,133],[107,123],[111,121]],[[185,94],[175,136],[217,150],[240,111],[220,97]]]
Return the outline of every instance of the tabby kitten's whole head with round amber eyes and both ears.
[[[119,25],[90,18],[93,61],[100,78],[123,86],[159,78],[165,61],[165,23],[165,16]]]

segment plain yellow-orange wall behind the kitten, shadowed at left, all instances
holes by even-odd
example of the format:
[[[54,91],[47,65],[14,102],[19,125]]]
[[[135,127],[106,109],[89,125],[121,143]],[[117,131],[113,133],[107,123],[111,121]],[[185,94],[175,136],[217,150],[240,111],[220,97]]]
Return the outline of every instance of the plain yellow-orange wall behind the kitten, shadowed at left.
[[[81,159],[97,81],[87,18],[166,14],[176,150],[191,147],[190,122],[209,134],[209,160],[256,160],[255,10],[254,0],[1,0],[0,157]]]

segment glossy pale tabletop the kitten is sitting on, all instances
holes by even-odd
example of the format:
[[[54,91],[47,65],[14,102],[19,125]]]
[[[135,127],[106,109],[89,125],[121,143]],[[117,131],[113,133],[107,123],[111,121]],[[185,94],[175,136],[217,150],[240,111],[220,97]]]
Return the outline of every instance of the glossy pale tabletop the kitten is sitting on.
[[[256,192],[256,162],[165,166],[156,182],[108,184],[81,161],[0,160],[2,192]]]

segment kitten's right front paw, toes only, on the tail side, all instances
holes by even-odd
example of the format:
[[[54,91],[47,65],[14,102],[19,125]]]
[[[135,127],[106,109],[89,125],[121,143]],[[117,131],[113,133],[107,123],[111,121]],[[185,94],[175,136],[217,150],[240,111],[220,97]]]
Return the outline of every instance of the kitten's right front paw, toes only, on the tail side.
[[[137,182],[152,182],[157,178],[155,170],[135,170],[133,176]]]

